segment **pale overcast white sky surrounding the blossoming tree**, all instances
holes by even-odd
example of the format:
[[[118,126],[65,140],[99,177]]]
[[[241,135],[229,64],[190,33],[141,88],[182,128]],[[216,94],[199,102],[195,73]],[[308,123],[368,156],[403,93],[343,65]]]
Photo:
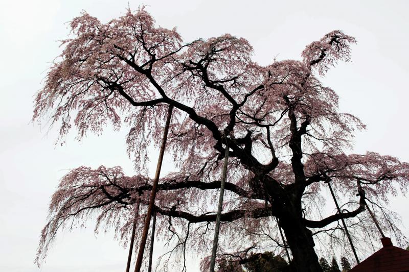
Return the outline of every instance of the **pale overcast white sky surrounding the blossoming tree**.
[[[352,62],[328,72],[325,84],[340,96],[340,108],[360,117],[368,130],[357,135],[354,152],[374,151],[409,161],[407,1],[133,1],[146,4],[156,22],[177,27],[185,41],[224,33],[254,46],[254,59],[299,59],[305,45],[340,29],[354,36]],[[85,10],[106,22],[125,12],[121,1],[8,1],[0,4],[0,270],[39,271],[33,263],[46,222],[50,196],[67,169],[80,165],[121,165],[133,175],[125,131],[106,131],[81,143],[69,137],[55,146],[56,131],[30,123],[34,93],[50,62],[60,53],[57,40]],[[151,156],[152,169],[156,161]],[[165,171],[170,165],[165,167]],[[153,172],[153,171],[152,171]],[[409,200],[398,197],[392,210],[409,228]],[[41,271],[122,271],[127,250],[113,233],[89,228],[64,232]],[[409,232],[405,230],[407,236]],[[161,251],[156,243],[155,252]],[[198,271],[192,259],[188,271]]]

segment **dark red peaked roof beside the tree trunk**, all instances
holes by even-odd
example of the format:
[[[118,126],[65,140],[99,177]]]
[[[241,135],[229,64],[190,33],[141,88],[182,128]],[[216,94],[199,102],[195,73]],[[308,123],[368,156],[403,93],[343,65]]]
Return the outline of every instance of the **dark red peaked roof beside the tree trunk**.
[[[383,248],[349,272],[409,272],[409,251],[394,246],[388,237],[381,241]]]

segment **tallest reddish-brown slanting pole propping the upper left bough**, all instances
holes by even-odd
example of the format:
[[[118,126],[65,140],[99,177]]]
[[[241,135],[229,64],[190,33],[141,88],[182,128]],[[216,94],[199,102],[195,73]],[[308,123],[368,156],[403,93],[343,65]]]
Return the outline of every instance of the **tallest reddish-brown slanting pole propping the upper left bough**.
[[[135,272],[141,271],[142,259],[144,257],[144,251],[145,251],[145,245],[146,245],[146,238],[148,237],[149,224],[150,224],[150,219],[152,216],[153,205],[155,202],[156,187],[159,181],[159,175],[161,174],[163,155],[165,153],[166,140],[168,138],[169,124],[170,124],[170,118],[172,117],[172,110],[173,110],[173,106],[169,105],[168,115],[166,116],[165,130],[163,132],[161,150],[159,152],[159,158],[157,160],[155,178],[153,179],[152,193],[150,195],[148,212],[146,214],[146,219],[145,219],[144,231],[142,233],[141,244],[139,246],[137,264],[135,265],[135,270],[134,270]]]

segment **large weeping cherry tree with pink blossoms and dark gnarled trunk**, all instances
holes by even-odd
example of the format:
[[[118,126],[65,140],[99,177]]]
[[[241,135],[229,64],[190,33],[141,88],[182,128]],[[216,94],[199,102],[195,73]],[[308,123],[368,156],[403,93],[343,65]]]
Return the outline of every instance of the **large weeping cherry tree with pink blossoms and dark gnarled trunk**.
[[[224,140],[230,158],[221,258],[240,262],[275,247],[279,253],[284,245],[276,217],[292,269],[320,271],[315,242],[347,246],[337,225],[341,218],[359,241],[358,250],[367,248],[374,228],[363,212],[365,199],[377,207],[383,227],[402,238],[383,206],[391,195],[406,192],[409,165],[371,152],[347,155],[354,132],[365,126],[338,111],[338,95],[317,77],[350,59],[354,38],[332,31],[308,45],[301,61],[261,66],[243,38],[225,34],[184,44],[175,29],[156,27],[144,8],[108,23],[83,13],[71,28],[35,98],[33,120],[51,113],[61,136],[74,125],[78,138],[102,133],[108,123],[129,126],[128,153],[140,175],[127,177],[120,167],[104,166],[69,172],[53,195],[38,262],[61,227],[92,214],[98,214],[97,228],[115,228],[125,243],[133,220],[142,228],[152,188],[145,177],[147,147],[160,142],[168,105],[174,118],[167,148],[177,172],[158,185],[157,235],[168,241],[170,255],[177,252],[181,269],[186,270],[186,248],[210,252]],[[325,217],[328,180],[344,205],[342,213]],[[366,194],[356,195],[358,182]],[[134,219],[136,203],[140,216]]]

